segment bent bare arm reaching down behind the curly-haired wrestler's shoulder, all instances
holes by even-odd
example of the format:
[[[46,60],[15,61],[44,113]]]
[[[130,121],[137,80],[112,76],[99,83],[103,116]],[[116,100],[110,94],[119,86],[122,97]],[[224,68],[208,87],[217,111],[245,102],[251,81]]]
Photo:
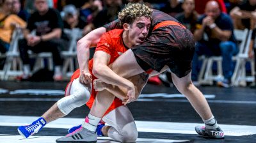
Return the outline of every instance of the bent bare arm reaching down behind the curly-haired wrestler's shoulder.
[[[81,40],[77,41],[77,60],[80,68],[81,75],[84,78],[79,80],[82,84],[92,82],[92,75],[88,70],[88,61],[90,57],[90,47],[96,47],[102,34],[106,33],[105,27],[97,28],[90,33],[86,34]]]

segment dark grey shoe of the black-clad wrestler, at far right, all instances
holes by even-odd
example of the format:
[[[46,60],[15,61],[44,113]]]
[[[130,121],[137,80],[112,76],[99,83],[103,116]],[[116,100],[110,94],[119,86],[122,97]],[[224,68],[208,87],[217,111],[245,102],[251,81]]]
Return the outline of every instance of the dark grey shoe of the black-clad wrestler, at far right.
[[[213,139],[224,139],[225,135],[223,130],[221,130],[220,126],[216,129],[207,129],[205,126],[196,126],[196,133],[199,135],[203,135],[205,137],[210,137]]]

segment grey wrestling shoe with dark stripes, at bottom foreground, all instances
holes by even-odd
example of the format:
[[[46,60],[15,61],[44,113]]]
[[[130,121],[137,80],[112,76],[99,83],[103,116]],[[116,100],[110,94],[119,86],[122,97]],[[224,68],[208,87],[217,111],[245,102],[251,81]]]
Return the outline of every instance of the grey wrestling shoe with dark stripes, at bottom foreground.
[[[97,142],[97,135],[95,132],[92,132],[90,130],[87,130],[86,128],[83,128],[81,126],[79,129],[75,130],[72,133],[69,133],[65,137],[61,137],[59,139],[56,139],[56,142],[90,142],[94,143]]]

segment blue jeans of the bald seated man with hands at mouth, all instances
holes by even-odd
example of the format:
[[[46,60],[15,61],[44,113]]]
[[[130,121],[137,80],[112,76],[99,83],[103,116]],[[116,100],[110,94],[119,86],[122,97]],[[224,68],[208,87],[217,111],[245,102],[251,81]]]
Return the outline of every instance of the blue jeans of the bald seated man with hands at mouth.
[[[192,80],[198,77],[198,56],[222,56],[222,70],[225,79],[230,80],[233,74],[232,56],[236,55],[239,49],[233,41],[221,41],[219,45],[206,42],[196,42],[195,54],[192,62]]]

